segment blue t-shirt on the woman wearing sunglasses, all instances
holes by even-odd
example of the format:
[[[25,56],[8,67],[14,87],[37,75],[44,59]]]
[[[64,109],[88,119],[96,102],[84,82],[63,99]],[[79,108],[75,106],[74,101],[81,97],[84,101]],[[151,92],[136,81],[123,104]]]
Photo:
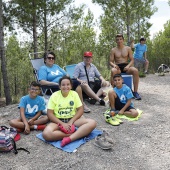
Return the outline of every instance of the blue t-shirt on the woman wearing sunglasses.
[[[38,80],[46,80],[50,82],[58,83],[60,78],[62,78],[67,73],[59,67],[57,64],[53,64],[52,67],[41,66],[38,71]]]

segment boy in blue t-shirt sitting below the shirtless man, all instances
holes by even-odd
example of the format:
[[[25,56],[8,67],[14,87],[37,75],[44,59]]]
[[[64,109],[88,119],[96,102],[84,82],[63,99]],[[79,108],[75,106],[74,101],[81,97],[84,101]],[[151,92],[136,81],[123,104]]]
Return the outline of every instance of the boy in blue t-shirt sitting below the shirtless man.
[[[116,114],[125,115],[135,118],[138,116],[137,110],[134,108],[131,102],[133,94],[131,89],[123,84],[123,78],[120,74],[115,74],[113,77],[115,87],[109,91],[109,102],[111,106],[110,114],[115,116]]]

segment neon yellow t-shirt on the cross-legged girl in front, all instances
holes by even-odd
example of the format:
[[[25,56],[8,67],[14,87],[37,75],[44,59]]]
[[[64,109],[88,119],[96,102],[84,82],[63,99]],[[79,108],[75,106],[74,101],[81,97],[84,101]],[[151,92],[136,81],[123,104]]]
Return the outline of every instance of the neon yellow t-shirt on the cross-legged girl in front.
[[[72,118],[80,106],[82,102],[77,92],[72,90],[67,97],[63,97],[61,90],[54,92],[48,102],[48,109],[54,110],[54,115],[61,119]]]

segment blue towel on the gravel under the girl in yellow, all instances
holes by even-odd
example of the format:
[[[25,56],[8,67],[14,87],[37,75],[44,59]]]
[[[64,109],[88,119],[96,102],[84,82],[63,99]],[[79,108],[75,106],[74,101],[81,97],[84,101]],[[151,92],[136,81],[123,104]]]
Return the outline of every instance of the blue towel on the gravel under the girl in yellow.
[[[87,137],[84,137],[84,138],[78,139],[76,141],[73,141],[73,142],[69,143],[68,145],[65,145],[64,147],[60,146],[61,140],[60,141],[54,141],[54,142],[46,141],[42,136],[42,132],[40,134],[37,134],[36,137],[38,139],[43,140],[46,143],[49,143],[49,144],[53,145],[56,148],[62,149],[63,151],[75,152],[75,151],[77,151],[78,147],[80,147],[84,143],[88,142],[89,140],[94,139],[96,136],[101,135],[102,133],[103,132],[101,130],[94,129]]]

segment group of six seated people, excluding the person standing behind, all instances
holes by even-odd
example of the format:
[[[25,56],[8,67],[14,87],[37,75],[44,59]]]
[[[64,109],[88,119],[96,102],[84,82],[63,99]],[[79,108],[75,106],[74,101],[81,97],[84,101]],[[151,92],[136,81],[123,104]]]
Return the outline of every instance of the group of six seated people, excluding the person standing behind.
[[[92,64],[93,54],[90,51],[84,53],[83,62],[77,64],[72,79],[55,64],[56,56],[53,52],[45,53],[45,65],[38,72],[39,82],[30,84],[28,95],[21,98],[18,106],[20,117],[11,120],[10,126],[25,134],[29,134],[32,129],[43,130],[45,140],[62,140],[61,146],[64,147],[71,141],[87,136],[96,127],[95,120],[83,116],[83,112],[90,112],[83,101],[84,94],[90,98],[91,104],[98,102],[102,106],[105,105],[102,97],[108,97],[111,116],[138,116],[132,103],[133,97],[141,100],[137,92],[139,74],[133,67],[132,50],[124,45],[124,37],[121,34],[116,36],[116,43],[117,47],[111,50],[110,55],[110,82],[106,81]],[[133,93],[123,84],[122,72],[133,75]],[[41,85],[53,86],[47,115],[42,115],[45,102],[39,96]],[[78,128],[75,130],[74,126]]]

